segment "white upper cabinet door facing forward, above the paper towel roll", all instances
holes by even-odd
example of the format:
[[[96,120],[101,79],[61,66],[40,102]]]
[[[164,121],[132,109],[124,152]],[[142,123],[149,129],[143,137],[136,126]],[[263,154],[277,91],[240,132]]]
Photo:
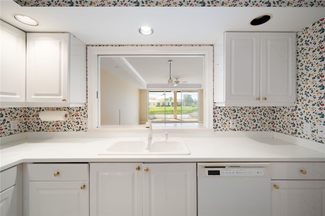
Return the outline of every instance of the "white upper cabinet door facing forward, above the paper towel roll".
[[[27,33],[26,101],[66,102],[68,33]]]

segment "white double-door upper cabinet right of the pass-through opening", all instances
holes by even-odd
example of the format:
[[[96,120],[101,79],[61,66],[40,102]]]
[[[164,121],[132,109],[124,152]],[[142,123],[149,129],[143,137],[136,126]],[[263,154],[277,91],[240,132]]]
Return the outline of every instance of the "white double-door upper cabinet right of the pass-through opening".
[[[296,33],[225,32],[214,73],[216,105],[294,105]]]

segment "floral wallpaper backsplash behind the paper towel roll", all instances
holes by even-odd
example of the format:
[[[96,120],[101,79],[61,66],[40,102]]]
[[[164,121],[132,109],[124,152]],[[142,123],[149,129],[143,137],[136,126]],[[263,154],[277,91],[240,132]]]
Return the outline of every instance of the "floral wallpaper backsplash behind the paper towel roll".
[[[68,111],[67,121],[41,121],[39,113],[43,111]],[[18,129],[11,130],[10,121],[18,122]],[[14,107],[0,108],[0,136],[22,132],[45,131],[86,131],[86,107]]]

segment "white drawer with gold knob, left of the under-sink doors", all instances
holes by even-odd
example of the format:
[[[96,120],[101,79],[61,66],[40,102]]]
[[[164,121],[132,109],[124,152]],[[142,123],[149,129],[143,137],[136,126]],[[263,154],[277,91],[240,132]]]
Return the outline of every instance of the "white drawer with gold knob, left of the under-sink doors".
[[[88,164],[28,164],[29,181],[88,181]]]

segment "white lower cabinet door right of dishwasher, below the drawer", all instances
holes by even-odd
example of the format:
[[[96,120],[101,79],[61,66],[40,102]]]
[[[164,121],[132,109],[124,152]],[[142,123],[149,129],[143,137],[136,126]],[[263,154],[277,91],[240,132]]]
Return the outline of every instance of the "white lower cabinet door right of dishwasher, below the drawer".
[[[273,216],[325,216],[325,181],[272,181]]]

